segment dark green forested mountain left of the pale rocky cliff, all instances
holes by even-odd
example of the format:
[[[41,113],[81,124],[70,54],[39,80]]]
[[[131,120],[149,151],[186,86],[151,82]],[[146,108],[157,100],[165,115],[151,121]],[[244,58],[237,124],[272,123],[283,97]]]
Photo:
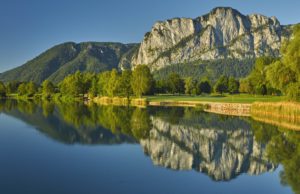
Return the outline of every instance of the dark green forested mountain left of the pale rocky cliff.
[[[137,44],[67,42],[50,48],[20,67],[0,74],[0,80],[41,83],[49,79],[57,83],[77,70],[82,72],[111,70],[118,68],[122,56],[135,47]]]

